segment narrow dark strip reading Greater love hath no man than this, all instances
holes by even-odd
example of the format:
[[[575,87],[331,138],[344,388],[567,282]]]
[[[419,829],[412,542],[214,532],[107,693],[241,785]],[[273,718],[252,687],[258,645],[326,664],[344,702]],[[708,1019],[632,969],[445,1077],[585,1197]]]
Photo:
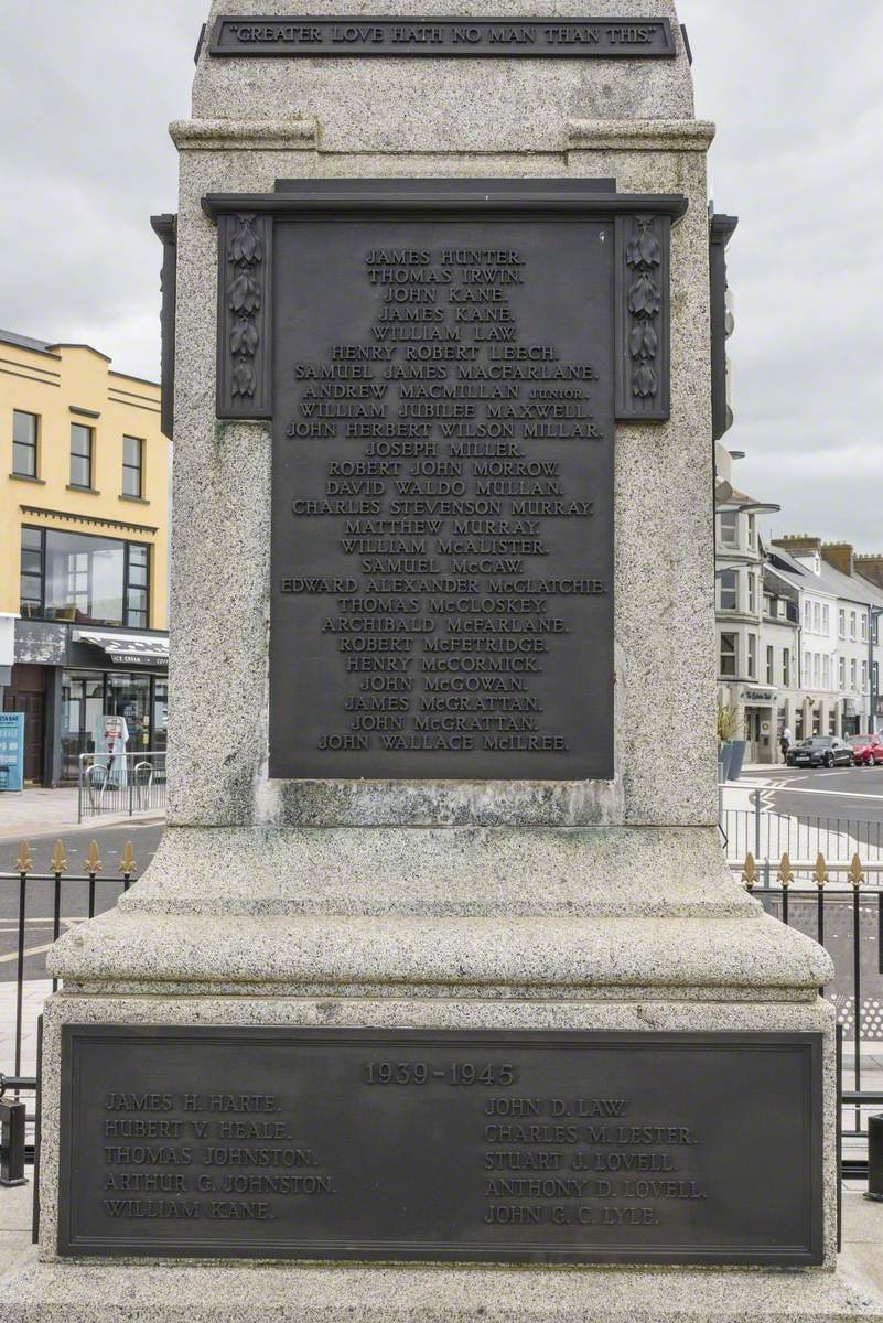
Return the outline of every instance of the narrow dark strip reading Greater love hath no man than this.
[[[668,19],[218,19],[210,56],[674,56]]]

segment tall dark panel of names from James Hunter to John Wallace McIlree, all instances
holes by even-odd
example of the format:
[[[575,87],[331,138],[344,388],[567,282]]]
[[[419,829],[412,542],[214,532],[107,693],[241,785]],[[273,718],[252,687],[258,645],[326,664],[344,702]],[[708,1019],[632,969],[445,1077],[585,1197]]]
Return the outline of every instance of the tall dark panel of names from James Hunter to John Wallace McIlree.
[[[274,775],[612,775],[612,250],[276,225]]]

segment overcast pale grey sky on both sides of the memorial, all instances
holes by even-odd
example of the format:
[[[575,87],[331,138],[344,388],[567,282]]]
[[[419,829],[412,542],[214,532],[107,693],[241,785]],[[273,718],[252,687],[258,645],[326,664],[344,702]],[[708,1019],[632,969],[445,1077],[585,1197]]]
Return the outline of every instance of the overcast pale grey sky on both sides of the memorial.
[[[0,325],[157,374],[148,217],[174,210],[165,126],[188,114],[206,12],[4,7]],[[679,16],[697,112],[718,123],[715,205],[740,217],[738,484],[783,507],[780,532],[883,550],[883,0],[681,0]]]

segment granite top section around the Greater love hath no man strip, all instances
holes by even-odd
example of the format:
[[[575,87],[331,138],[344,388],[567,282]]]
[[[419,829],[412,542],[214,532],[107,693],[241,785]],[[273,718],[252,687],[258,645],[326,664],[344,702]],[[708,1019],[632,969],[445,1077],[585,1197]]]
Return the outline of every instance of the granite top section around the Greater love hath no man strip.
[[[568,118],[691,119],[693,81],[673,0],[490,0],[482,19],[668,17],[674,60],[217,60],[202,49],[198,118],[316,115],[324,152],[549,151]],[[211,5],[209,24],[230,13]],[[246,0],[251,15],[291,15],[291,0]],[[307,0],[303,15],[475,15],[475,0]],[[247,69],[243,69],[247,65]],[[513,171],[517,173],[517,168]]]

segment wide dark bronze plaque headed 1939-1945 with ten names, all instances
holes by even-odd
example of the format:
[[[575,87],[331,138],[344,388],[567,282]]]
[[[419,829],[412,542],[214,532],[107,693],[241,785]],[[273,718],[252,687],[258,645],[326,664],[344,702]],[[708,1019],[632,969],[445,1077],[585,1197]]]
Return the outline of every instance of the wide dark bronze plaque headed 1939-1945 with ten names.
[[[62,1254],[822,1257],[818,1035],[69,1025],[62,1080]]]

